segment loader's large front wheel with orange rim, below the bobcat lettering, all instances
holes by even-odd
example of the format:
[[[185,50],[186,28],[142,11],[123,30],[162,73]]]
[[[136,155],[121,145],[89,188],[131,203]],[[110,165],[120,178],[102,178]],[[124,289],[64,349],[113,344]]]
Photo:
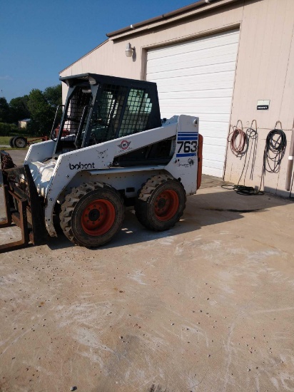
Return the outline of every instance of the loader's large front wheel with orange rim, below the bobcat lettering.
[[[124,216],[121,195],[103,182],[87,182],[66,195],[60,225],[66,237],[82,247],[106,244],[118,232]]]

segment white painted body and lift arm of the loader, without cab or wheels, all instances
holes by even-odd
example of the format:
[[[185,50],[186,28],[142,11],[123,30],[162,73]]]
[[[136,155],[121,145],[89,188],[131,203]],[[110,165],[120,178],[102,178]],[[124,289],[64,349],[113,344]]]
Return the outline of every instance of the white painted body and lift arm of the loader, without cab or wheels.
[[[156,174],[169,174],[179,180],[186,195],[197,190],[198,172],[197,117],[174,116],[160,128],[116,138],[86,148],[62,153],[51,158],[55,141],[31,145],[24,164],[29,165],[39,195],[45,198],[45,224],[51,236],[56,236],[53,223],[54,206],[61,204],[74,187],[87,181],[106,182],[124,192],[126,198],[136,197],[141,186]],[[173,138],[171,160],[166,165],[113,166],[114,158]]]

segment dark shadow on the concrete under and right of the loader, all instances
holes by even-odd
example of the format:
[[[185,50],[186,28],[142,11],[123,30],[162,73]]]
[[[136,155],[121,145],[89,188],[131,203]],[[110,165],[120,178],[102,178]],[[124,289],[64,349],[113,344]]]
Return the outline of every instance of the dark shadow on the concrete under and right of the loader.
[[[220,187],[215,187],[188,197],[181,221],[166,232],[153,232],[146,229],[138,222],[133,210],[127,210],[120,232],[105,246],[92,250],[140,244],[186,232],[195,231],[197,235],[201,227],[242,220],[245,214],[263,214],[270,208],[288,205],[288,203],[289,200],[272,195],[241,196],[234,191],[225,191]],[[59,230],[59,237],[50,238],[48,246],[53,250],[74,245]]]

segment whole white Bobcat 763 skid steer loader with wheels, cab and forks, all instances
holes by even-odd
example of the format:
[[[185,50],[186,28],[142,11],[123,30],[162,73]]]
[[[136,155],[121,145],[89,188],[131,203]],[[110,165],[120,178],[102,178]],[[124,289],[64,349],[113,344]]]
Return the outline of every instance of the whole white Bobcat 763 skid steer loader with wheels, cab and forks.
[[[186,195],[201,183],[199,120],[161,120],[156,83],[86,73],[60,78],[66,102],[51,138],[30,145],[16,167],[1,151],[6,221],[21,227],[0,252],[56,236],[84,247],[108,242],[134,206],[148,229],[166,230],[183,215]]]

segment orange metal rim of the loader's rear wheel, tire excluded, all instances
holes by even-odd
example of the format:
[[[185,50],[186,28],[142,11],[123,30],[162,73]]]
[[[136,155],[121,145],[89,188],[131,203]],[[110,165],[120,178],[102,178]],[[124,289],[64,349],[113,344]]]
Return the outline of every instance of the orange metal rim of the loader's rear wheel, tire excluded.
[[[176,191],[164,190],[156,197],[154,204],[156,218],[161,222],[171,220],[171,218],[176,215],[179,204],[180,202]]]

